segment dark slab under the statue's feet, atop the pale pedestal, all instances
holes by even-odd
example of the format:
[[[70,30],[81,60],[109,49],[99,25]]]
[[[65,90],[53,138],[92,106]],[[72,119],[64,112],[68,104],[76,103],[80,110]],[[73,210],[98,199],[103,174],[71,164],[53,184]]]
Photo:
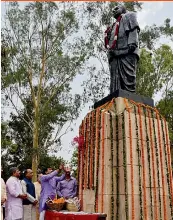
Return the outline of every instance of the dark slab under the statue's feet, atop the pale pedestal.
[[[148,97],[144,97],[141,95],[137,95],[135,93],[131,93],[122,89],[116,90],[114,93],[104,97],[103,99],[99,100],[98,102],[94,103],[94,109],[104,105],[105,103],[111,101],[113,98],[126,98],[129,100],[133,100],[134,102],[139,102],[144,105],[149,105],[151,107],[154,107],[154,100]]]

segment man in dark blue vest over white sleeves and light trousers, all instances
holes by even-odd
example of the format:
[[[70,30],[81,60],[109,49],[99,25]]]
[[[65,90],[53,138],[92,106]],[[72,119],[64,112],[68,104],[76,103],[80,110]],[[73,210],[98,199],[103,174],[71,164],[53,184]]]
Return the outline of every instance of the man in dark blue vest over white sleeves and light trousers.
[[[32,183],[33,172],[26,169],[24,178],[21,181],[23,193],[27,194],[27,199],[23,200],[23,220],[36,220],[36,200],[35,186]]]

